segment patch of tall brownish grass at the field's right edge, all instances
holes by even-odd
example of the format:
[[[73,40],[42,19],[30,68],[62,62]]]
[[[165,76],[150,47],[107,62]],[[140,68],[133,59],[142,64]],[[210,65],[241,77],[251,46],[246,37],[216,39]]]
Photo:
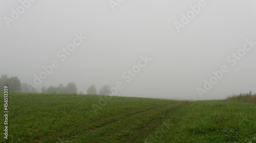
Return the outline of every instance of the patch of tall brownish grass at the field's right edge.
[[[256,103],[256,94],[249,93],[240,93],[239,95],[228,96],[227,100],[239,100],[245,102]]]

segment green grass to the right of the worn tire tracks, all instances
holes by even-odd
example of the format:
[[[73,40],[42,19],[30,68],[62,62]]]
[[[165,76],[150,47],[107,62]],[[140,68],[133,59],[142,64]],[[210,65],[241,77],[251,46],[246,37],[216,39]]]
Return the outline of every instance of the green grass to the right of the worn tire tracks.
[[[183,108],[158,142],[256,142],[256,104],[196,101]]]

